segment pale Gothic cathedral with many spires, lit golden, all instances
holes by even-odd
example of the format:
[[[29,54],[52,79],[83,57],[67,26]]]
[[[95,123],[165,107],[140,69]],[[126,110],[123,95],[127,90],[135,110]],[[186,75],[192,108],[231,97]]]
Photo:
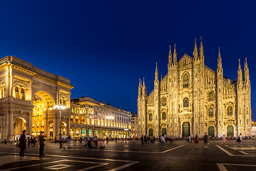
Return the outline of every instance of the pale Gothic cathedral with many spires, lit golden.
[[[154,89],[146,92],[145,81],[138,87],[138,137],[174,135],[187,137],[208,133],[251,135],[251,85],[247,59],[244,70],[237,70],[237,80],[223,76],[222,58],[217,58],[217,71],[205,66],[202,38],[198,56],[195,41],[193,58],[169,53],[168,73],[158,78],[155,68]]]

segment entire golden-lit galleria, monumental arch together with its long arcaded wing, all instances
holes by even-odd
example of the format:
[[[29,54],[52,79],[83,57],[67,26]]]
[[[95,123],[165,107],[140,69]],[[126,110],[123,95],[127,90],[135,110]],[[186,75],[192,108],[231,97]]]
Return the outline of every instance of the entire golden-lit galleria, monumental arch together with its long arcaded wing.
[[[130,136],[128,110],[88,97],[72,100],[70,80],[20,58],[0,59],[0,86],[1,140],[19,140],[22,130],[33,137],[44,131],[48,138]]]

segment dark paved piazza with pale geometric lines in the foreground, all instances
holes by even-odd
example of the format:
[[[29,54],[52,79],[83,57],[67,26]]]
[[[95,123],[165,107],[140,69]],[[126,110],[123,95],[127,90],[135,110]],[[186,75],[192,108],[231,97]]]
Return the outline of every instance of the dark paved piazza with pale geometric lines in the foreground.
[[[66,145],[66,144],[65,144]],[[256,140],[235,140],[225,145],[210,140],[209,148],[200,141],[178,140],[159,147],[158,143],[141,145],[139,141],[108,142],[105,149],[83,147],[71,142],[71,149],[59,149],[58,143],[46,142],[45,154],[39,157],[39,147],[26,148],[26,160],[19,160],[19,147],[0,145],[0,170],[256,170]]]

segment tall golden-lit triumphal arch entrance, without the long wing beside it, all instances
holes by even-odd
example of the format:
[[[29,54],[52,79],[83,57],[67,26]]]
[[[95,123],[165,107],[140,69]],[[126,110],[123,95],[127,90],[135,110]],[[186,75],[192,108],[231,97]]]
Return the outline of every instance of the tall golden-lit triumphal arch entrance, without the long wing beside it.
[[[17,139],[22,130],[48,138],[70,133],[70,80],[14,56],[0,59],[0,139]],[[54,105],[66,105],[61,118]],[[61,121],[60,121],[61,119]]]

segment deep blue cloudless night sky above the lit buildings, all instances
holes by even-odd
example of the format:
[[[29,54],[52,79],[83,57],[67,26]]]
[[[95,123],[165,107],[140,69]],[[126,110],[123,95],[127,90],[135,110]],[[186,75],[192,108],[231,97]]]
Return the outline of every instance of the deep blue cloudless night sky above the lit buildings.
[[[205,65],[236,79],[247,57],[256,120],[256,2],[1,1],[0,54],[71,79],[71,98],[88,96],[137,113],[138,80],[153,89],[155,62],[167,73],[169,45],[178,60],[203,36]]]

